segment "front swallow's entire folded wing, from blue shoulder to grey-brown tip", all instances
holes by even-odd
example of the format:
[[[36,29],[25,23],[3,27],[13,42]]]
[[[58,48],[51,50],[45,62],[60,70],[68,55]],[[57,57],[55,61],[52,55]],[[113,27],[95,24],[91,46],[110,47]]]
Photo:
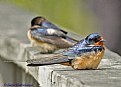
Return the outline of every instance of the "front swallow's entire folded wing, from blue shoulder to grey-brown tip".
[[[27,63],[28,66],[42,66],[42,65],[51,65],[51,64],[61,64],[61,63],[67,63],[71,62],[74,58],[78,56],[83,55],[92,55],[92,53],[96,53],[98,51],[102,51],[104,48],[101,46],[95,46],[95,47],[85,47],[82,49],[79,49],[78,52],[74,51],[65,51],[61,54],[51,54],[47,57],[39,58],[39,59],[31,59],[28,60]]]

